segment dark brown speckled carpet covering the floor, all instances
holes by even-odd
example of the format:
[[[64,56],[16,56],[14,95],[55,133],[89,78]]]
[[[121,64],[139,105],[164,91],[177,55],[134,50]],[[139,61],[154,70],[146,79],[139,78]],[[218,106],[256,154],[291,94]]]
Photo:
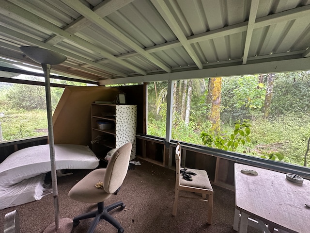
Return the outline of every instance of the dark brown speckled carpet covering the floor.
[[[213,224],[206,224],[206,203],[179,199],[177,216],[172,216],[175,171],[140,160],[141,165],[128,170],[123,186],[117,195],[105,202],[109,205],[122,200],[124,210],[111,211],[121,222],[125,233],[235,233],[233,231],[234,192],[214,188]],[[89,170],[73,170],[74,174],[58,178],[58,196],[61,218],[73,218],[81,213],[95,210],[96,204],[86,204],[68,197],[70,188]],[[53,196],[0,211],[0,226],[6,213],[17,210],[21,233],[42,233],[54,218]],[[90,219],[81,220],[72,233],[86,233]],[[2,231],[2,230],[1,230]],[[248,227],[248,233],[258,233]],[[101,220],[95,233],[117,233],[116,228]]]

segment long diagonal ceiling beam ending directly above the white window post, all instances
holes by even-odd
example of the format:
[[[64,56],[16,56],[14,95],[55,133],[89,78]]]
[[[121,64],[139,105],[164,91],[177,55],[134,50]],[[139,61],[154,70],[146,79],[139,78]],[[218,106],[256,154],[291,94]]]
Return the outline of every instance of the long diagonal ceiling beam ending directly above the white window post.
[[[98,16],[96,13],[94,13],[91,9],[89,9],[87,6],[85,6],[83,3],[81,3],[79,0],[72,1],[72,0],[62,0],[63,3],[73,8],[75,11],[77,11],[79,14],[87,18],[89,21],[93,22],[103,30],[107,31],[111,35],[115,36],[118,40],[122,41],[124,44],[129,46],[131,49],[137,51],[141,56],[145,57],[152,63],[154,63],[156,66],[160,67],[161,69],[165,70],[167,73],[171,72],[171,68],[164,65],[162,62],[157,60],[155,57],[153,57],[150,53],[143,50],[139,45],[137,45],[134,41],[129,39],[124,33],[117,30],[115,27],[113,27],[111,24],[109,24],[103,17]]]

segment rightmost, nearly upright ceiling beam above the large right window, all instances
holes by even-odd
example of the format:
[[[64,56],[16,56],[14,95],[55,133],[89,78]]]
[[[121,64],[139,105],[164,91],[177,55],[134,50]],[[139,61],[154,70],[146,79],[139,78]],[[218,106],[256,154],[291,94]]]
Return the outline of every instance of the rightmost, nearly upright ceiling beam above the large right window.
[[[243,65],[247,64],[248,50],[249,50],[250,44],[251,44],[251,39],[252,39],[252,34],[253,34],[253,29],[254,29],[254,23],[255,23],[255,19],[256,19],[256,15],[257,15],[259,2],[260,2],[259,0],[252,0],[251,1],[250,15],[248,18],[248,30],[247,30],[247,36],[246,36],[246,43],[245,43],[244,52],[243,52],[243,61],[242,61]]]

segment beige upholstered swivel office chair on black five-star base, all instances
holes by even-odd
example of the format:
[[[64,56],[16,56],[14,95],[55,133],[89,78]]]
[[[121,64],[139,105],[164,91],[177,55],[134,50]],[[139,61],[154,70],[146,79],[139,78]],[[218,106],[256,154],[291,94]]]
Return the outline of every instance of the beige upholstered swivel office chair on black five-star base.
[[[74,226],[78,226],[79,220],[94,217],[88,233],[93,233],[100,219],[105,219],[115,226],[118,233],[124,232],[121,224],[109,215],[109,211],[118,206],[124,209],[124,203],[118,201],[105,207],[103,201],[109,199],[119,191],[127,174],[131,148],[132,144],[126,143],[111,156],[107,168],[99,168],[91,171],[71,188],[69,191],[69,197],[71,199],[85,203],[98,203],[98,210],[76,216],[73,219]],[[96,184],[96,186],[100,186],[101,182],[103,182],[102,188],[95,187]]]

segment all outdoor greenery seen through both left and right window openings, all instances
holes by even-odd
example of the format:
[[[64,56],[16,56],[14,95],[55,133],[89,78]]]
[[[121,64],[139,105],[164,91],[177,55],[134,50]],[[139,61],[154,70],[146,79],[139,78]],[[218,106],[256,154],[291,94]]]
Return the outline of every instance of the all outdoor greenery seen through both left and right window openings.
[[[167,86],[148,85],[150,135],[165,137]],[[309,87],[310,71],[175,81],[172,139],[309,166]],[[0,123],[2,140],[46,135],[44,86],[0,83]]]

